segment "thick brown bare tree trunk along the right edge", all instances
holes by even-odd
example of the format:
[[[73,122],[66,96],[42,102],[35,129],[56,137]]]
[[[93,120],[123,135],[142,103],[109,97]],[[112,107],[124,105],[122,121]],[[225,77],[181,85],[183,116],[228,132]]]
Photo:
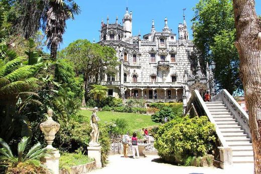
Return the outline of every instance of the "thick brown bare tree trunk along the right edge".
[[[249,127],[254,152],[254,173],[261,173],[261,22],[254,0],[233,0],[236,27],[235,46],[239,53]]]

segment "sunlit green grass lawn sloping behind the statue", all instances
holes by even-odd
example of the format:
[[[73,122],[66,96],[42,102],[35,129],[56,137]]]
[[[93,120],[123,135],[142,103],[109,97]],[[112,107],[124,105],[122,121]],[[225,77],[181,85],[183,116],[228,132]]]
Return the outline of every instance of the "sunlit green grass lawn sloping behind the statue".
[[[90,120],[92,111],[80,110],[81,115],[86,116],[87,120]],[[128,128],[131,130],[147,128],[150,126],[159,125],[151,120],[150,115],[135,114],[135,113],[123,113],[123,112],[109,112],[99,111],[97,116],[100,118],[100,122],[110,122],[111,119],[123,118],[128,123]],[[87,121],[86,120],[86,121]]]

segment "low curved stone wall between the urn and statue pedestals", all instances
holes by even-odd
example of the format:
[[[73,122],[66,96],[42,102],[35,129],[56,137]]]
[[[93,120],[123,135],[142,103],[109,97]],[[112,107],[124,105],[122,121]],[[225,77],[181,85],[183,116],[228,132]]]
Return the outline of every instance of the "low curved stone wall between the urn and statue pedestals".
[[[96,169],[96,161],[92,161],[82,165],[72,166],[70,172],[66,169],[60,169],[59,174],[84,174],[94,169]]]

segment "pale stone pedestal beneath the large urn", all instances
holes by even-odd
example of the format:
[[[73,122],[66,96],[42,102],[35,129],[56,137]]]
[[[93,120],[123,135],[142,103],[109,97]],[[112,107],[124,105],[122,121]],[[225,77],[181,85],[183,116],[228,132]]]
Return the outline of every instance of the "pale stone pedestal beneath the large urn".
[[[54,174],[59,174],[59,159],[60,159],[59,150],[55,150],[51,153],[50,156],[42,157],[41,162],[46,165],[48,169],[52,171]],[[48,172],[50,173],[50,172]]]

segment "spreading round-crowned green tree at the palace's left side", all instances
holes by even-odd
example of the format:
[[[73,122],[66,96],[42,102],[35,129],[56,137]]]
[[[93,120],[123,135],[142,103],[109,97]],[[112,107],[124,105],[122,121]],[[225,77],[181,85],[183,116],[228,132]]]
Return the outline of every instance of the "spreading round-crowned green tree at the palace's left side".
[[[116,51],[113,48],[92,44],[86,39],[70,43],[58,57],[73,61],[76,73],[83,75],[85,92],[89,83],[99,83],[105,70],[114,69],[118,64]]]

